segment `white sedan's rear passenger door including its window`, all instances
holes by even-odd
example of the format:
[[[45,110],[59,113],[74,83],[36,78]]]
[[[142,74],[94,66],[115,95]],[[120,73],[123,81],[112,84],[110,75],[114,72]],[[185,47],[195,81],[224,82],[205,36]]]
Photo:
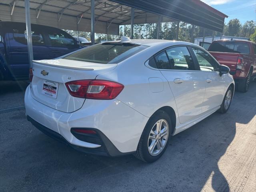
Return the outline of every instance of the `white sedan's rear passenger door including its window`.
[[[168,48],[155,56],[156,65],[168,80],[174,95],[180,123],[202,114],[205,79],[196,71],[186,46]]]

